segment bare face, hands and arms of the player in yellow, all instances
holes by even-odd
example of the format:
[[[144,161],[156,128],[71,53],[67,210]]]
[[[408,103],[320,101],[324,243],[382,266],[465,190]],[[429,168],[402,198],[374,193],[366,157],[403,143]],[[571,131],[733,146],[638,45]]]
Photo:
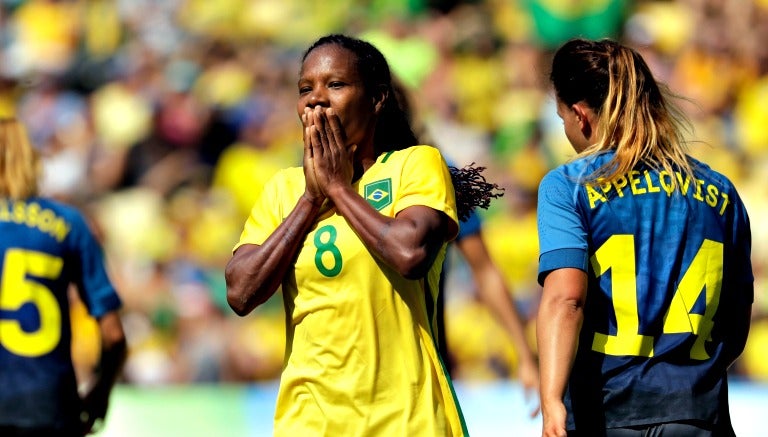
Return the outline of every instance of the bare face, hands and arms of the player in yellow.
[[[225,270],[227,301],[250,313],[282,283],[309,230],[328,208],[344,216],[371,253],[409,279],[423,277],[456,224],[413,206],[386,217],[354,189],[375,162],[374,133],[386,86],[367,90],[355,55],[336,45],[314,49],[302,65],[297,113],[304,125],[306,189],[262,245],[239,247]]]

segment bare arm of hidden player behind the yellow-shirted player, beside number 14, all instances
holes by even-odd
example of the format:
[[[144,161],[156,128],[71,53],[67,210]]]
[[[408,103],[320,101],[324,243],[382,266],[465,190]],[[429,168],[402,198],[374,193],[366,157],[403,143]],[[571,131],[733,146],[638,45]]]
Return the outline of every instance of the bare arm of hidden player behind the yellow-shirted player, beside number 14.
[[[526,397],[536,393],[539,388],[539,370],[525,336],[525,323],[517,311],[504,277],[488,253],[482,234],[467,235],[458,240],[456,246],[472,269],[481,301],[501,324],[515,346],[519,359],[518,378],[525,389]],[[532,411],[532,415],[537,413],[538,406]]]

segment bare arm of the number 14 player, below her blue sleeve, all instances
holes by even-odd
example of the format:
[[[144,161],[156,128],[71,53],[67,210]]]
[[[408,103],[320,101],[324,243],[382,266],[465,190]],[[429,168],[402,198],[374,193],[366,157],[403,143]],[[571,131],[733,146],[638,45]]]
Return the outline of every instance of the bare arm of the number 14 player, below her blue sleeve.
[[[587,275],[582,270],[554,270],[544,280],[536,324],[543,436],[566,435],[563,396],[576,357],[586,296]]]

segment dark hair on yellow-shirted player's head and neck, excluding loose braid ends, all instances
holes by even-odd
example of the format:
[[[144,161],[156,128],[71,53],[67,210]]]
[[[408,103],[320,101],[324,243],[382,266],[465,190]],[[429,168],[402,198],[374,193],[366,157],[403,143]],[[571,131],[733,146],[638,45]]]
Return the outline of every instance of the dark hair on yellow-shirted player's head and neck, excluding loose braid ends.
[[[363,86],[368,92],[373,93],[379,87],[384,87],[386,90],[387,97],[379,114],[373,138],[373,147],[376,154],[402,150],[418,144],[419,141],[416,138],[416,134],[413,133],[408,115],[400,107],[397,95],[395,94],[389,64],[379,49],[369,42],[347,35],[326,35],[315,41],[304,52],[304,56],[301,58],[302,63],[314,49],[325,45],[338,45],[355,55],[357,58],[355,63],[357,71],[360,73],[360,77],[363,79]]]

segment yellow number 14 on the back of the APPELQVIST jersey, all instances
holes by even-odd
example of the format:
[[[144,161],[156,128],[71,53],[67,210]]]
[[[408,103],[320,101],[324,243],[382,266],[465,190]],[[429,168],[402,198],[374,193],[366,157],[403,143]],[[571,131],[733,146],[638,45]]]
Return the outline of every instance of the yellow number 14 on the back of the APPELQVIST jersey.
[[[639,329],[635,283],[635,239],[613,235],[590,259],[597,276],[612,273],[611,290],[616,314],[616,335],[596,332],[592,350],[606,355],[653,356],[653,336]],[[704,240],[675,290],[664,315],[664,334],[692,333],[697,336],[690,357],[709,358],[704,343],[709,340],[712,318],[720,302],[723,272],[723,243]],[[706,290],[704,314],[692,313],[693,304]]]

